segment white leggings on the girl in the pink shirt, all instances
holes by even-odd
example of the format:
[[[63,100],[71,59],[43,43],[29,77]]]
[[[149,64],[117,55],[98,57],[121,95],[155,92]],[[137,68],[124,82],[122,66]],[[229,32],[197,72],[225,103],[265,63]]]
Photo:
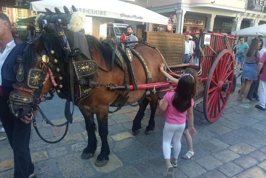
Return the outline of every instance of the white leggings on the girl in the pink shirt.
[[[173,140],[173,151],[174,151],[174,158],[177,159],[180,149],[181,143],[180,139],[182,133],[185,129],[184,124],[169,124],[165,122],[164,124],[164,131],[163,131],[163,153],[164,159],[170,159],[171,156],[171,141]]]

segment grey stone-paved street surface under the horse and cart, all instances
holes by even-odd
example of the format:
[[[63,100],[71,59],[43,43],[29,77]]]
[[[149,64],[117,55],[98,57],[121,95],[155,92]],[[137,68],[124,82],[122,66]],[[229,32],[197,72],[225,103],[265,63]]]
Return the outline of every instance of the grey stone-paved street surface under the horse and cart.
[[[236,97],[237,93],[230,96],[222,116],[212,124],[205,120],[202,104],[194,108],[194,125],[198,132],[192,138],[195,156],[190,160],[182,159],[187,151],[183,137],[173,177],[266,177],[266,112],[254,107],[257,102],[243,104]],[[58,104],[59,100],[55,98],[53,102],[41,105],[45,113],[49,111],[49,117],[63,118],[64,103]],[[142,131],[133,136],[132,120],[137,110],[138,107],[126,108],[110,114],[110,160],[101,168],[94,165],[101,148],[98,135],[94,157],[89,160],[80,157],[88,137],[84,118],[78,110],[73,124],[69,125],[68,134],[60,143],[47,144],[32,129],[30,150],[37,177],[163,177],[163,112],[157,109],[155,131],[152,135],[145,135],[151,112],[147,108]],[[55,124],[64,121],[53,120]],[[40,133],[47,139],[56,140],[64,133],[65,127],[50,127],[40,120],[37,124]],[[13,152],[7,139],[0,142],[0,153],[0,177],[12,177]]]

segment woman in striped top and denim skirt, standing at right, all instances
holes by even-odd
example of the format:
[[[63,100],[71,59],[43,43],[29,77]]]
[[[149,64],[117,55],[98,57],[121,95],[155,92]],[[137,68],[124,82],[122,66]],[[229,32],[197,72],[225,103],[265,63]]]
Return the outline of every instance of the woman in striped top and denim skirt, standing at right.
[[[242,73],[244,78],[244,83],[240,88],[239,96],[237,98],[237,100],[242,100],[243,103],[250,102],[250,100],[247,99],[247,94],[250,90],[252,82],[257,80],[256,78],[257,64],[260,61],[258,44],[259,44],[259,39],[257,37],[253,38],[250,47],[245,51],[245,59],[244,59],[245,64]],[[242,96],[243,92],[244,96]]]

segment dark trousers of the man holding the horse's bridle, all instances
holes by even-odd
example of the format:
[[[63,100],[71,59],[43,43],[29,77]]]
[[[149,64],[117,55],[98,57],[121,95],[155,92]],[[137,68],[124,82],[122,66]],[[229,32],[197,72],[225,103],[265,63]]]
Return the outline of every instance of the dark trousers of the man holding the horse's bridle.
[[[25,124],[19,118],[14,119],[3,113],[1,122],[14,153],[14,177],[28,178],[34,172],[29,148],[31,123]]]

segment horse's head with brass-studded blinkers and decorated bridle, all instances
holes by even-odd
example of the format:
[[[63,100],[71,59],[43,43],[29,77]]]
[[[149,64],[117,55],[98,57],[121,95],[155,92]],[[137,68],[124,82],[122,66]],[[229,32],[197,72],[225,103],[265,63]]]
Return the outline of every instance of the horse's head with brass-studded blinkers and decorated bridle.
[[[9,96],[9,108],[16,117],[24,117],[32,109],[38,109],[38,104],[48,99],[48,92],[51,96],[54,92],[59,94],[67,83],[64,81],[69,75],[65,72],[65,55],[71,49],[65,32],[72,14],[66,7],[64,10],[65,13],[61,13],[55,8],[56,13],[53,13],[47,9],[49,15],[40,15],[36,19],[42,32],[14,49],[16,82]],[[68,87],[65,85],[64,88]]]

